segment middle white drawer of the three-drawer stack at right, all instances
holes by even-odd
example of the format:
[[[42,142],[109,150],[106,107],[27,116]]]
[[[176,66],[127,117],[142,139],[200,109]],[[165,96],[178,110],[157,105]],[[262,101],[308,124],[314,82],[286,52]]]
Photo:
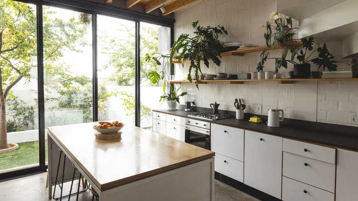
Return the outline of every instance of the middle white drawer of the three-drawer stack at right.
[[[282,175],[329,192],[335,192],[336,166],[283,152]]]

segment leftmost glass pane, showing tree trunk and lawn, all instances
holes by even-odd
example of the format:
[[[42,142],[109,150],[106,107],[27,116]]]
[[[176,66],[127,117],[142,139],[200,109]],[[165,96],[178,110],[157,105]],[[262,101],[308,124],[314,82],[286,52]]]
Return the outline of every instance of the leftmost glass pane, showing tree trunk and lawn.
[[[39,163],[36,45],[36,6],[1,0],[0,173]]]

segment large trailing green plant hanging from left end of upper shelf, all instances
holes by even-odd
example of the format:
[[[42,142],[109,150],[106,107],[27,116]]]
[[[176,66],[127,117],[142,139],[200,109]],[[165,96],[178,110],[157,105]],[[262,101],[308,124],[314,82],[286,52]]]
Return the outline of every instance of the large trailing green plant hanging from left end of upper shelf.
[[[223,46],[219,41],[221,34],[228,34],[224,27],[218,25],[217,27],[204,27],[198,25],[198,21],[192,23],[192,27],[195,29],[194,36],[190,37],[189,34],[181,34],[172,47],[171,54],[157,56],[146,55],[146,61],[153,59],[158,65],[162,59],[164,62],[169,59],[173,64],[173,58],[178,56],[179,62],[184,67],[184,61],[190,61],[187,79],[192,82],[191,70],[194,69],[194,79],[196,80],[196,87],[198,87],[199,72],[201,72],[200,61],[203,60],[206,67],[209,67],[209,60],[214,64],[220,66],[220,54],[223,51]],[[178,55],[175,55],[178,54]],[[153,71],[149,75],[153,83],[158,82],[163,76],[163,72]]]

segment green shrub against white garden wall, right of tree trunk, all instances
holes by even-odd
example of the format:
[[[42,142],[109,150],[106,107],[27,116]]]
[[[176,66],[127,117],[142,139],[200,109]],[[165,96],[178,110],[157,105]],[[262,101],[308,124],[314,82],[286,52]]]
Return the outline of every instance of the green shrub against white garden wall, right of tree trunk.
[[[37,109],[35,105],[27,105],[20,99],[8,99],[7,100],[7,116],[11,116],[11,119],[7,119],[6,131],[27,131],[34,129],[34,114]]]

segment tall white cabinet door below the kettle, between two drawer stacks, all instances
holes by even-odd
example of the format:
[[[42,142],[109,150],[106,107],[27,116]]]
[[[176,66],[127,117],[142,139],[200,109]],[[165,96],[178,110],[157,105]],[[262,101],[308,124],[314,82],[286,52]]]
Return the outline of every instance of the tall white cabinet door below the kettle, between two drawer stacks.
[[[282,137],[245,131],[244,184],[281,199]]]

